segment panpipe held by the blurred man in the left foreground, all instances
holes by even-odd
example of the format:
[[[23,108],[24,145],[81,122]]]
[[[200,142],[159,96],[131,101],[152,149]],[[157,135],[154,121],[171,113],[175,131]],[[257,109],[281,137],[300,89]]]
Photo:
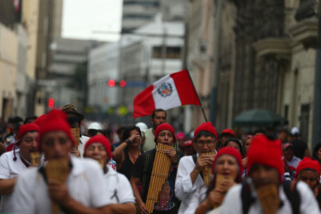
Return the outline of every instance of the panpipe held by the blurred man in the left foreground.
[[[70,172],[69,162],[65,159],[48,160],[45,164],[45,174],[47,179],[54,179],[60,182],[65,182],[67,180]],[[52,201],[52,213],[59,214],[59,205]]]

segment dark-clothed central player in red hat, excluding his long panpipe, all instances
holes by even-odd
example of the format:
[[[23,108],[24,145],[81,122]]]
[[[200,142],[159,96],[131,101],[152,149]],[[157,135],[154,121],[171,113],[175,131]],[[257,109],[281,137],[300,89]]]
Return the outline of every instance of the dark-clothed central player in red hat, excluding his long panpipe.
[[[156,145],[165,144],[172,146],[174,142],[176,142],[174,133],[174,128],[171,125],[167,123],[158,125],[155,132],[154,142],[156,142]],[[154,214],[177,213],[178,210],[178,200],[175,197],[174,185],[179,157],[177,151],[174,149],[166,149],[165,154],[170,158],[171,166],[169,168],[165,184],[163,184],[163,187],[158,195],[158,202],[154,206]],[[136,197],[136,203],[138,204],[138,207],[143,214],[148,213],[147,208],[145,207],[145,203],[148,190],[150,186],[152,186],[150,180],[152,178],[152,169],[155,156],[156,149],[152,149],[141,154],[141,156],[138,157],[134,164],[134,168],[132,170],[132,178],[130,179],[130,184],[132,184],[132,189]],[[143,182],[141,194],[139,193],[137,186],[138,182],[140,181]]]

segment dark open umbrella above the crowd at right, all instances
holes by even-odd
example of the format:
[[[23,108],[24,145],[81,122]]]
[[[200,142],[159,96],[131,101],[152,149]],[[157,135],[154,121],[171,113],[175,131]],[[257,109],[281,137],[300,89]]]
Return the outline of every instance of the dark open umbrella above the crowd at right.
[[[265,109],[244,111],[234,119],[234,126],[273,127],[276,124],[287,122],[287,119]]]

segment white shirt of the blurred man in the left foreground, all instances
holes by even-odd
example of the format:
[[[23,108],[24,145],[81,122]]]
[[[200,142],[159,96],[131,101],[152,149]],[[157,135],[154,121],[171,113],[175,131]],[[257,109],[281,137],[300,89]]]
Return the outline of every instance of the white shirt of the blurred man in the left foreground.
[[[95,160],[71,157],[72,170],[66,184],[70,196],[84,206],[99,208],[110,204],[103,171]],[[48,186],[39,168],[25,170],[12,195],[13,213],[51,213]],[[62,213],[62,211],[61,211]]]

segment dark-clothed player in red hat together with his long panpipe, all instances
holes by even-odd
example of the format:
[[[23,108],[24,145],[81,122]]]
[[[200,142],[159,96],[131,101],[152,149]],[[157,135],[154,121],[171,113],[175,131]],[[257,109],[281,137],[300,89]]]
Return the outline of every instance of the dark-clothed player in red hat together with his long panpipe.
[[[154,139],[156,149],[141,154],[134,164],[130,184],[132,184],[136,197],[136,204],[143,214],[177,213],[178,211],[179,204],[174,193],[174,184],[180,157],[172,147],[176,142],[174,133],[174,128],[171,125],[167,123],[158,125]],[[168,149],[166,149],[167,147]],[[156,157],[158,158],[156,159]],[[137,187],[140,181],[143,184],[141,194]],[[147,198],[147,195],[155,193],[156,197],[149,196]],[[156,203],[152,203],[152,211],[148,211],[147,202],[152,200],[155,200]]]

